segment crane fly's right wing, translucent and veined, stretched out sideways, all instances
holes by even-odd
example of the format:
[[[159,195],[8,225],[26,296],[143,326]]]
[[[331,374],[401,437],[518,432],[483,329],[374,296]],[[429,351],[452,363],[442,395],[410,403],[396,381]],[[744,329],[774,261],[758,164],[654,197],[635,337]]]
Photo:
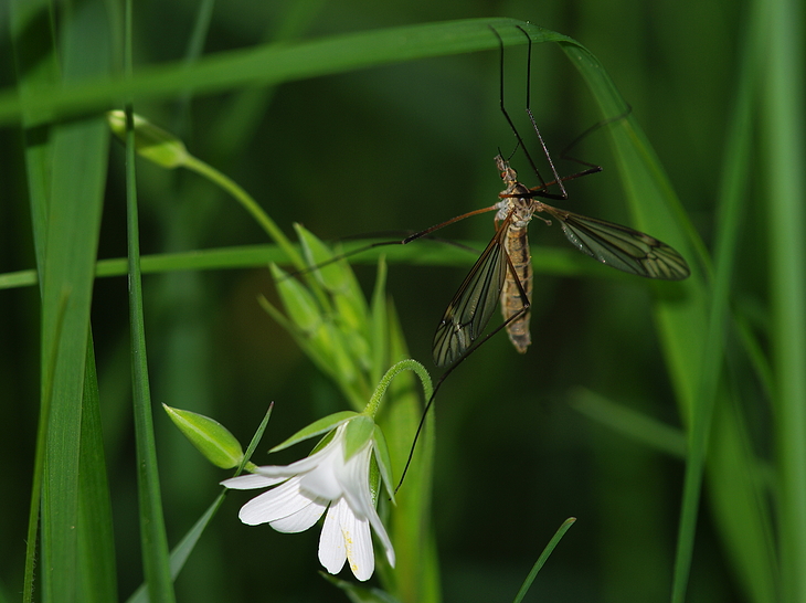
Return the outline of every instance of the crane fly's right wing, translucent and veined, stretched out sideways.
[[[574,246],[603,264],[662,281],[681,281],[689,275],[686,260],[675,248],[648,234],[544,203],[543,209],[560,221],[565,237]]]

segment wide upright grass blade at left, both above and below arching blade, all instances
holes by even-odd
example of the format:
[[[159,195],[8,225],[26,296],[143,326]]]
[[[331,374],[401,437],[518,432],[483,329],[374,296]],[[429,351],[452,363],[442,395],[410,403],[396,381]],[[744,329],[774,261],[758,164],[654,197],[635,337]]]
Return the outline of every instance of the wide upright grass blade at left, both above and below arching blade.
[[[63,21],[65,82],[106,66],[98,6]],[[42,591],[45,601],[77,600],[82,399],[93,274],[106,176],[108,134],[100,120],[60,126],[53,136],[42,302],[43,383],[53,384],[42,495]],[[52,358],[47,355],[53,355]]]

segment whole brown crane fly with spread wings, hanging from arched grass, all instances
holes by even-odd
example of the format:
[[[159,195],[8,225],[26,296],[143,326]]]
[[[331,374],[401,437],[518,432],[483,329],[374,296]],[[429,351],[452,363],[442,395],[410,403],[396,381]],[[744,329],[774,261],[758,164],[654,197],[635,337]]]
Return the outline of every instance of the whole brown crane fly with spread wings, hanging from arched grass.
[[[552,219],[556,220],[565,237],[576,248],[619,271],[662,281],[680,281],[689,275],[686,260],[666,243],[621,224],[554,208],[539,199],[568,199],[563,181],[601,171],[602,168],[585,163],[590,166],[585,171],[565,178],[558,176],[530,108],[531,39],[523,29],[518,29],[529,40],[526,110],[549,161],[554,181],[547,183],[540,177],[523,139],[503,106],[503,42],[494,29],[501,44],[500,109],[518,140],[516,150],[518,147],[523,150],[541,184],[531,189],[522,184],[509,161],[500,154],[496,156],[496,166],[506,186],[498,194],[500,201],[490,208],[466,214],[496,211],[496,234],[470,268],[439,321],[432,347],[437,367],[453,364],[468,353],[468,350],[475,349],[474,343],[489,322],[499,302],[503,315],[501,327],[506,327],[510,341],[519,352],[527,351],[531,343],[529,308],[532,293],[532,265],[527,229],[534,214],[548,214],[550,218],[541,219],[549,225]],[[548,192],[548,187],[552,184],[559,186],[560,194]]]

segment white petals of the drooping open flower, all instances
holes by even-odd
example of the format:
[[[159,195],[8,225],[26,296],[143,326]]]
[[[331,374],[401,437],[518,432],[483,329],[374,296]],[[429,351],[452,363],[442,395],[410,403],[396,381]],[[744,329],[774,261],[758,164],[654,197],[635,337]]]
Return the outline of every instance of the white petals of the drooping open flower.
[[[341,423],[332,440],[320,451],[287,466],[264,466],[252,475],[222,482],[227,488],[247,490],[275,486],[241,508],[241,521],[250,526],[268,523],[280,532],[301,532],[328,510],[319,539],[319,561],[331,574],[339,573],[344,560],[359,580],[368,580],[375,569],[370,526],[383,543],[394,567],[394,549],[378,516],[370,493],[370,461],[374,440],[344,459],[348,422]],[[329,508],[328,508],[329,506]]]

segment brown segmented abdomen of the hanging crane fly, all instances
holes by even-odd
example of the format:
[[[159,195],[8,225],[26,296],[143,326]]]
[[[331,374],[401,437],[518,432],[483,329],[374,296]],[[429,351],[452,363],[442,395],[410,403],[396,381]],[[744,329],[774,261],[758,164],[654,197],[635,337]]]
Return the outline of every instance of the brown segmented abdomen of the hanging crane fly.
[[[528,309],[532,298],[532,257],[529,253],[529,239],[527,237],[526,228],[510,226],[505,245],[518,278],[516,279],[511,269],[507,269],[503,289],[501,289],[501,313],[505,320],[522,313],[521,316],[507,325],[507,332],[515,349],[520,353],[524,353],[529,343],[532,342],[529,335],[530,311]],[[518,282],[520,282],[520,287]],[[524,294],[526,299],[523,299]],[[526,311],[523,311],[524,307],[527,308]]]

